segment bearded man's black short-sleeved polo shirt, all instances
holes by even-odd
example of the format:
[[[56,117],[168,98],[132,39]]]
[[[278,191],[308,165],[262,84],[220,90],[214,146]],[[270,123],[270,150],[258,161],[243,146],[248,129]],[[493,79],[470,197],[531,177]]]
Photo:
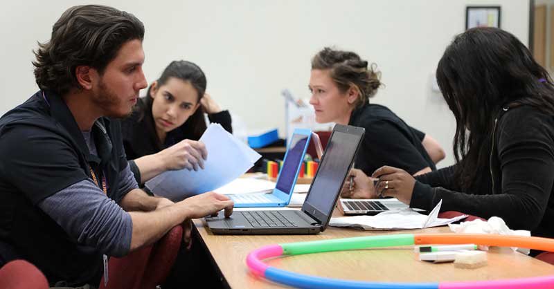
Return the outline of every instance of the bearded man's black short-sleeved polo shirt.
[[[35,93],[0,118],[0,259],[30,261],[51,285],[98,285],[102,254],[66,234],[37,203],[91,178],[90,167],[98,178],[105,172],[107,195],[119,202],[127,193],[117,189],[127,166],[120,125],[97,121],[92,133],[100,157],[93,156],[61,97],[45,95]]]

